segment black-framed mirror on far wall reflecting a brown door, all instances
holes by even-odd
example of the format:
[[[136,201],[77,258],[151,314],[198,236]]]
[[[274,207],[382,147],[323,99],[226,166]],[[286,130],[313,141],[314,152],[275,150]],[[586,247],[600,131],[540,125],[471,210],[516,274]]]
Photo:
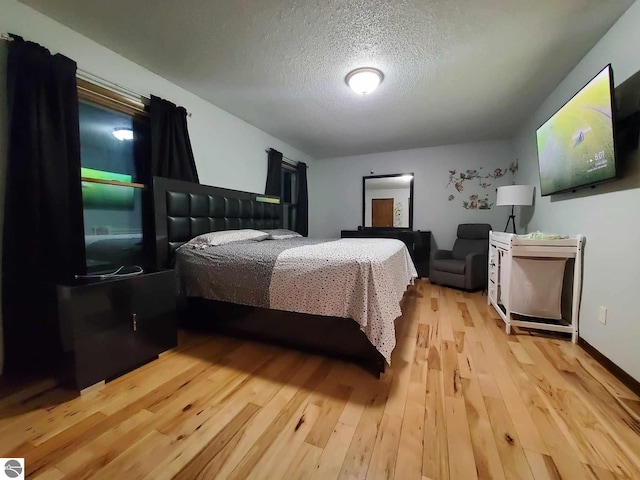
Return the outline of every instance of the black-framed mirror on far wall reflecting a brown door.
[[[413,173],[362,178],[365,228],[413,228]]]

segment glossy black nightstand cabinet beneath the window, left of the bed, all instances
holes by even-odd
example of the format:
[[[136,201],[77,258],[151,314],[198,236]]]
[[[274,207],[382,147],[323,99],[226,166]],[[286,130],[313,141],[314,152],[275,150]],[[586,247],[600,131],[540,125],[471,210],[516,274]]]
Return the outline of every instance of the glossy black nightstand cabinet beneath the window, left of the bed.
[[[82,390],[177,345],[175,274],[58,285],[58,316],[69,368]]]

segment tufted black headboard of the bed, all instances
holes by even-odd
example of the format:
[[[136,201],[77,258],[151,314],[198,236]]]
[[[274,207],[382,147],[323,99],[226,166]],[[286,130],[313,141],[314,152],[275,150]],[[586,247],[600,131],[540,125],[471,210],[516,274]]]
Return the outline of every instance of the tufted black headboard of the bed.
[[[282,205],[264,195],[153,177],[156,267],[193,237],[219,230],[282,228]]]

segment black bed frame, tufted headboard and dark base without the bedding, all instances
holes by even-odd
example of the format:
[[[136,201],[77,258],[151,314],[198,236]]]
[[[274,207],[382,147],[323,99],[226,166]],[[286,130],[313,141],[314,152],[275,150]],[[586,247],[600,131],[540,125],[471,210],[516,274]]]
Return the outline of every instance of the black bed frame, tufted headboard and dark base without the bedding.
[[[282,205],[268,200],[265,195],[154,177],[155,267],[171,268],[176,249],[202,233],[282,228]],[[185,326],[353,361],[377,376],[386,367],[355,321],[195,297],[183,303],[180,321]]]

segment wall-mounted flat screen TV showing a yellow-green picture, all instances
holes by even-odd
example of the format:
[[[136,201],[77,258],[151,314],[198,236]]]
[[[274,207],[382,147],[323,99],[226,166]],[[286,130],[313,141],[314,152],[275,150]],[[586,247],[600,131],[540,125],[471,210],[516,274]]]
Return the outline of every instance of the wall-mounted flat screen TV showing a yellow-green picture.
[[[536,132],[542,196],[618,178],[607,65]]]

